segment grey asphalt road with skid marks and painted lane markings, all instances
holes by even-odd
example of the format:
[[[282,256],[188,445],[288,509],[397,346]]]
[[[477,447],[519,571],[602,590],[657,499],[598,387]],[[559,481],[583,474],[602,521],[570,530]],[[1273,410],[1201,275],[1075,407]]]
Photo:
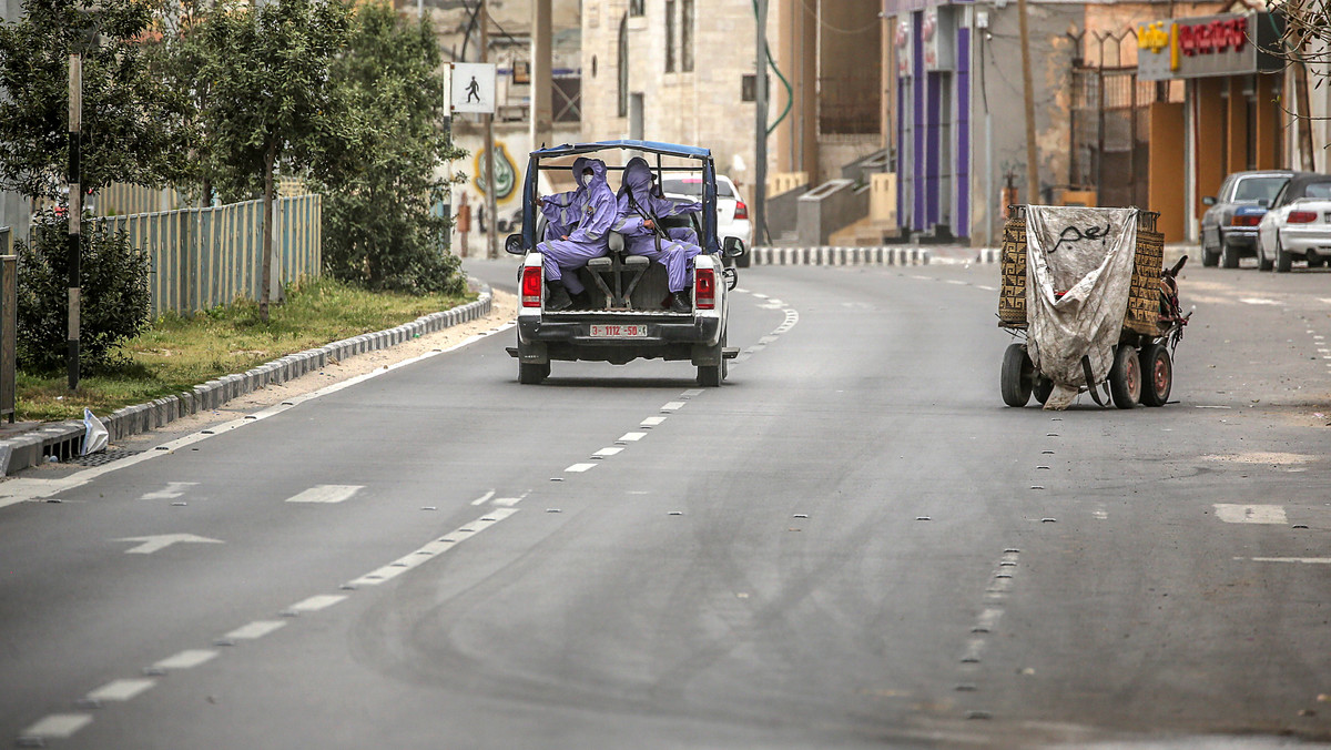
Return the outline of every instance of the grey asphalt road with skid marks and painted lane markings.
[[[0,484],[0,737],[1331,739],[1331,274],[1190,268],[1178,402],[1130,412],[1005,408],[996,286],[753,268],[720,389],[662,362],[522,386],[507,329]]]

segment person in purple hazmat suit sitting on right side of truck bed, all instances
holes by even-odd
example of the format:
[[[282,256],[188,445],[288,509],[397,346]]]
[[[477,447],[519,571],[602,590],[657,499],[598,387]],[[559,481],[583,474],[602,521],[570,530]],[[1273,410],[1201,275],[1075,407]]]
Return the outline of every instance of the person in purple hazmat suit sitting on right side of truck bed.
[[[652,190],[652,168],[647,160],[634,157],[624,165],[619,187],[619,218],[614,229],[624,236],[628,254],[646,256],[666,266],[669,297],[667,306],[676,313],[691,309],[688,274],[693,258],[703,249],[697,234],[687,226],[663,229],[664,216],[679,216],[703,209],[700,202],[675,202]]]

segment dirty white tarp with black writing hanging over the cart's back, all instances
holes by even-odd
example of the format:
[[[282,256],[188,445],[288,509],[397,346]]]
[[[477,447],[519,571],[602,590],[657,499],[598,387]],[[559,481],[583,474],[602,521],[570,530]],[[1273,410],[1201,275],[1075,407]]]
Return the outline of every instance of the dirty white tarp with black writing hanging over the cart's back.
[[[1026,348],[1036,369],[1054,381],[1046,408],[1066,408],[1077,386],[1093,385],[1083,356],[1095,382],[1109,377],[1135,252],[1135,208],[1026,208]]]

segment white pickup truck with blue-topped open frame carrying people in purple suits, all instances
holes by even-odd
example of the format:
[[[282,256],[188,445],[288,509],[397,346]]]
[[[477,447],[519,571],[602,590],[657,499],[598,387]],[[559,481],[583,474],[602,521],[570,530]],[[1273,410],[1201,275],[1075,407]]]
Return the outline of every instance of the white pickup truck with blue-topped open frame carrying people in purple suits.
[[[693,261],[692,309],[673,312],[667,304],[666,268],[643,256],[624,252],[624,238],[608,234],[608,252],[594,258],[578,273],[590,302],[583,309],[546,309],[546,280],[542,253],[536,244],[544,234],[544,218],[536,209],[542,171],[567,172],[572,160],[595,155],[611,173],[618,188],[623,164],[634,156],[655,161],[656,181],[671,172],[703,175],[703,210],[667,217],[663,228],[691,226],[703,252]],[[705,148],[654,141],[602,141],[560,145],[535,151],[527,164],[523,184],[522,233],[510,234],[504,249],[523,256],[518,272],[518,345],[508,354],[518,360],[518,381],[539,384],[550,376],[550,362],[600,361],[623,365],[638,358],[689,361],[697,368],[697,382],[719,386],[725,380],[727,361],[739,349],[727,346],[729,304],[727,292],[735,288],[733,268],[725,258],[744,254],[740,237],[716,236],[716,169]]]

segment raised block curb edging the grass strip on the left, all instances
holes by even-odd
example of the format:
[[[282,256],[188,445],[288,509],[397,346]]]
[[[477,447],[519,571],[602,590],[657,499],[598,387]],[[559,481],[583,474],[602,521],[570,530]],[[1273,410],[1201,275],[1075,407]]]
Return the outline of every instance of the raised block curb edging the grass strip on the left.
[[[492,300],[494,294],[490,286],[482,285],[480,294],[474,302],[421,316],[411,322],[385,330],[362,333],[317,349],[278,357],[244,373],[228,374],[196,385],[192,390],[176,396],[117,409],[110,416],[101,417],[101,422],[110,433],[112,441],[164,428],[181,417],[217,409],[233,398],[268,385],[295,380],[309,372],[325,368],[330,362],[397,346],[417,336],[482,318],[490,314]],[[55,456],[60,461],[75,458],[83,452],[83,420],[52,422],[9,440],[0,440],[0,477],[36,466],[47,456]]]

